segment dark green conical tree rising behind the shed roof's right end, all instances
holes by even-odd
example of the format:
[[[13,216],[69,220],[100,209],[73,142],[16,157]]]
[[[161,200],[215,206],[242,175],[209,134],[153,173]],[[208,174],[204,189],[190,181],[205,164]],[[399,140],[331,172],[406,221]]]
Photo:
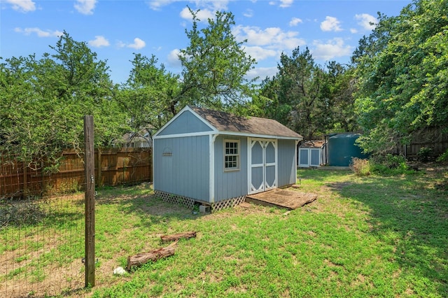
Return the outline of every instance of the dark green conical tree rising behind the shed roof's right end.
[[[323,69],[314,63],[311,52],[299,47],[291,56],[281,54],[279,69],[272,79],[263,81],[253,104],[265,105],[265,117],[314,139],[328,126],[330,117],[329,89]]]

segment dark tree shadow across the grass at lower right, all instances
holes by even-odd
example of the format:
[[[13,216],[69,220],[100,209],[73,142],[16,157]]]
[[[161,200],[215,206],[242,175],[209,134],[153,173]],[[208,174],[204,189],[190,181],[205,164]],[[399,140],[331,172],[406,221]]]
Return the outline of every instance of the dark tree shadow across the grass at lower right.
[[[393,246],[391,262],[409,274],[409,283],[420,288],[432,284],[441,297],[448,297],[448,190],[440,187],[440,180],[448,183],[444,175],[373,177],[327,185],[370,208],[371,233]]]

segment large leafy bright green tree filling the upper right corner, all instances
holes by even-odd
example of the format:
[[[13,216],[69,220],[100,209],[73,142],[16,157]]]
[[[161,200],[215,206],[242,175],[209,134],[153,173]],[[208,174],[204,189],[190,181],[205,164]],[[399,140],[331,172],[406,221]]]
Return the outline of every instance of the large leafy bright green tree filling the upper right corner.
[[[366,151],[386,152],[426,127],[447,130],[447,15],[447,1],[414,1],[360,41],[353,62]]]

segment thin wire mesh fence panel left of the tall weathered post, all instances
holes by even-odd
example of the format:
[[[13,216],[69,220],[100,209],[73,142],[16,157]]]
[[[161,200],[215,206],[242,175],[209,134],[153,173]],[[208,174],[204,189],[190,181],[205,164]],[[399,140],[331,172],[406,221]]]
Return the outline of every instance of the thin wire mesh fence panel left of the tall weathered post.
[[[41,297],[83,288],[82,183],[61,188],[34,179],[24,186],[23,171],[19,163],[1,166],[1,190],[20,191],[0,197],[0,297]],[[44,191],[36,194],[42,185]]]

